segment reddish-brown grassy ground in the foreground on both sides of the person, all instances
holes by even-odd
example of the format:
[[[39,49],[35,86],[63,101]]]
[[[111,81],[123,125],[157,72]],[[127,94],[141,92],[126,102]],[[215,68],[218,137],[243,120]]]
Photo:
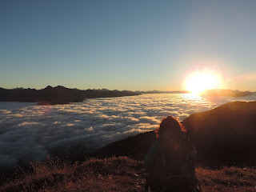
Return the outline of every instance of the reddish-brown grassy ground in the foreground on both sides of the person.
[[[145,191],[142,162],[131,158],[90,158],[82,163],[48,159],[33,171],[5,182],[0,191]],[[256,191],[255,168],[198,168],[203,191]]]

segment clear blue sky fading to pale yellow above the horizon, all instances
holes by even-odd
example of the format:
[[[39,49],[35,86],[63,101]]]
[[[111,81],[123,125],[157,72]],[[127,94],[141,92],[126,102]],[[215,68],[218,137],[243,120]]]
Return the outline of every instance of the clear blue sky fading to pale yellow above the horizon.
[[[256,2],[0,1],[0,87],[256,91]]]

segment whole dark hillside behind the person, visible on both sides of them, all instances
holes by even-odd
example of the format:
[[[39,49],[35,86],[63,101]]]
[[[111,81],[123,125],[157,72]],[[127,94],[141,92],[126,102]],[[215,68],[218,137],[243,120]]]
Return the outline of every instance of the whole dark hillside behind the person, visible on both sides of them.
[[[184,119],[199,160],[220,164],[256,165],[256,102],[230,102]],[[155,141],[154,132],[110,143],[98,157],[129,156],[142,160]]]

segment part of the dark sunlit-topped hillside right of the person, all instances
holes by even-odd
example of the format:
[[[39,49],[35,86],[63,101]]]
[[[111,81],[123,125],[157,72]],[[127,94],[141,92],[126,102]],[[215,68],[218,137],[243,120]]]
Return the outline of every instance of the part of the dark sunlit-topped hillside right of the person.
[[[199,158],[217,165],[256,164],[256,102],[230,102],[191,114],[183,125]]]

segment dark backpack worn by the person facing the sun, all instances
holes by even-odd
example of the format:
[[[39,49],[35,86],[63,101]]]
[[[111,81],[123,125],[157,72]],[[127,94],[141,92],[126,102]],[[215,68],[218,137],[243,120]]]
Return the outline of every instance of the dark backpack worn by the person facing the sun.
[[[194,162],[197,152],[190,138],[182,130],[171,130],[158,139],[158,178],[146,178],[146,185],[152,191],[200,192],[201,187],[195,176]],[[160,178],[161,177],[161,178]],[[160,179],[159,179],[160,178]],[[161,181],[158,185],[150,181]],[[146,190],[147,191],[147,190]]]

